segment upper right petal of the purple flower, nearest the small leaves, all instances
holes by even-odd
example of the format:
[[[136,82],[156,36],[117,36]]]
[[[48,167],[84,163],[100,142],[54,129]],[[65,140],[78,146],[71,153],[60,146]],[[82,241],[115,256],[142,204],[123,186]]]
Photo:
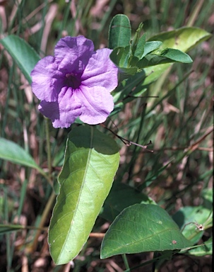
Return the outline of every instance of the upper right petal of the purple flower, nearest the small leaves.
[[[84,86],[102,86],[108,91],[113,91],[118,84],[118,69],[109,59],[112,50],[103,48],[97,50],[90,58],[81,80]]]

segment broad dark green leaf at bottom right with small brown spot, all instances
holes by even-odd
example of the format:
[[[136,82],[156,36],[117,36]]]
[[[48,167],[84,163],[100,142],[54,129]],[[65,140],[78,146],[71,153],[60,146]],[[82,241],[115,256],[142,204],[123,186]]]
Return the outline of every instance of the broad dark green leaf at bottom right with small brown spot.
[[[101,259],[117,254],[184,249],[191,246],[170,215],[157,205],[136,204],[124,209],[107,230]]]

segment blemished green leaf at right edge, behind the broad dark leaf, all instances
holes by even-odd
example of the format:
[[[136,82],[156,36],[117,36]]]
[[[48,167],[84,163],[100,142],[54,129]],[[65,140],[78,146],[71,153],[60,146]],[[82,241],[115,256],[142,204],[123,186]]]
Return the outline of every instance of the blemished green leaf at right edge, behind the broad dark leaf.
[[[178,210],[172,218],[177,222],[179,228],[182,229],[182,234],[184,234],[186,239],[196,244],[203,236],[203,230],[200,230],[197,226],[203,225],[209,215],[210,210],[203,208],[203,206],[186,206]]]

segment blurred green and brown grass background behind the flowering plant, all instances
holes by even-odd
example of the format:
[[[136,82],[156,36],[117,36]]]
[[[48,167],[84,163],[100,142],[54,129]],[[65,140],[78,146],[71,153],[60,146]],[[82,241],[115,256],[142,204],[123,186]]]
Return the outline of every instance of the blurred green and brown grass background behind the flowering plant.
[[[52,16],[49,11],[52,11],[54,4],[58,5],[57,13],[52,26],[46,28],[45,20],[48,14]],[[200,4],[202,6],[198,11]],[[32,13],[40,5],[43,5],[42,8]],[[6,2],[3,10],[7,24],[1,17],[1,38],[12,33],[19,35],[30,42],[41,56],[52,54],[54,45],[64,33],[85,35],[98,48],[100,45],[107,46],[109,22],[117,13],[129,17],[133,33],[143,21],[147,38],[160,31],[189,24],[213,33],[213,0],[170,1],[170,4],[165,0],[112,0],[92,13],[94,5],[95,1],[78,1],[71,13],[70,4],[62,0],[23,0],[20,4],[18,1]],[[38,27],[37,31],[35,26]],[[45,38],[46,46],[42,44]],[[201,205],[203,191],[213,186],[213,46],[213,38],[198,45],[189,52],[193,64],[174,64],[169,74],[162,75],[144,93],[145,96],[159,98],[138,98],[126,104],[124,111],[107,121],[108,127],[121,137],[140,145],[146,145],[150,140],[153,142],[148,149],[154,152],[149,153],[134,145],[126,147],[119,139],[115,139],[121,147],[121,166],[115,182],[122,181],[143,190],[171,215],[180,207]],[[27,81],[4,50],[1,50],[0,65],[0,137],[12,140],[29,151],[37,164],[47,170],[45,124],[37,111],[39,101],[32,95]],[[56,130],[50,124],[49,130],[56,181],[70,129]],[[160,171],[167,163],[170,163],[167,168]],[[155,176],[155,179],[150,179],[151,176]],[[51,186],[36,171],[0,161],[0,223],[47,228],[51,212],[47,212],[42,225],[41,217],[44,216],[51,194]],[[103,224],[102,219],[97,220],[97,232]],[[32,249],[35,235],[38,235],[39,240]],[[207,229],[201,241],[210,235],[210,229]],[[76,266],[71,271],[105,271],[112,267],[111,261],[125,269],[121,256],[100,260],[100,243],[101,240],[90,238],[81,255],[74,260]],[[28,229],[0,235],[0,256],[2,271],[20,271],[25,256],[29,269],[35,267],[39,258],[44,260],[40,271],[63,269],[55,267],[49,257],[47,229],[43,232]],[[131,267],[147,257],[145,254],[136,254],[127,258]],[[183,256],[182,259],[180,255],[175,256],[174,261],[157,265],[157,271],[167,271],[170,265],[176,271],[176,260],[181,261],[184,271],[188,271],[193,263],[196,266],[193,271],[203,271],[206,266],[204,257],[196,260]],[[210,258],[206,259],[206,263],[210,268]],[[151,266],[148,271],[149,268]],[[135,271],[141,271],[139,269]]]

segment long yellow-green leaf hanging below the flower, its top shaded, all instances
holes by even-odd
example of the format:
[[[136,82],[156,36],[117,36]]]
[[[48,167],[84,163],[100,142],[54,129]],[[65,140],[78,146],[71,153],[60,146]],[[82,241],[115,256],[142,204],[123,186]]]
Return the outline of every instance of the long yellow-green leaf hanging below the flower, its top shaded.
[[[68,263],[83,248],[118,166],[119,148],[111,137],[89,125],[71,130],[49,226],[49,249],[55,263]]]

